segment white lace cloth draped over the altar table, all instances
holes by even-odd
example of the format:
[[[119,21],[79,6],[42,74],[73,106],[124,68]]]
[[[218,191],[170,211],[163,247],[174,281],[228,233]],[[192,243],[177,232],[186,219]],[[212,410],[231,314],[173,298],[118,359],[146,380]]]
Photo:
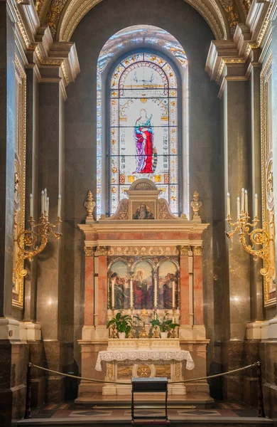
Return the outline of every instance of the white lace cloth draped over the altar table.
[[[185,350],[127,350],[122,351],[103,351],[98,353],[95,369],[102,371],[101,362],[122,362],[124,360],[140,360],[146,362],[146,360],[175,360],[177,362],[187,361],[186,368],[191,370],[195,367],[190,352]]]

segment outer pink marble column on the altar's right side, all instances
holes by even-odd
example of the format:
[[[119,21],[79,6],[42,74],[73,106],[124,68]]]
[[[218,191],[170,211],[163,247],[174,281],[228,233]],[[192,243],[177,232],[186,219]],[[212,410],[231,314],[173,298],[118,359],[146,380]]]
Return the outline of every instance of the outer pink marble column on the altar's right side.
[[[194,324],[203,325],[202,246],[193,246],[193,312]]]

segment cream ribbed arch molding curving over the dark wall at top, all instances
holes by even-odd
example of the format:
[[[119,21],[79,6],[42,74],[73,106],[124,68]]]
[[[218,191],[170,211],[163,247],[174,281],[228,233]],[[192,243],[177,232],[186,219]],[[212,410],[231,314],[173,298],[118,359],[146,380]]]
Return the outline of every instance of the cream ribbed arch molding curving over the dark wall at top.
[[[38,0],[43,1],[43,0]],[[45,3],[48,0],[44,0]],[[51,33],[59,41],[70,41],[77,24],[102,0],[52,0],[48,10],[48,25]],[[219,0],[184,0],[196,9],[207,21],[217,39],[229,38],[230,19],[225,14]],[[222,0],[223,1],[223,0]],[[234,4],[234,0],[225,0],[228,4]],[[239,0],[238,0],[239,1]],[[38,4],[38,3],[37,3]],[[38,4],[40,15],[43,16],[43,6]],[[233,6],[232,6],[233,7]],[[232,26],[230,27],[232,28]]]

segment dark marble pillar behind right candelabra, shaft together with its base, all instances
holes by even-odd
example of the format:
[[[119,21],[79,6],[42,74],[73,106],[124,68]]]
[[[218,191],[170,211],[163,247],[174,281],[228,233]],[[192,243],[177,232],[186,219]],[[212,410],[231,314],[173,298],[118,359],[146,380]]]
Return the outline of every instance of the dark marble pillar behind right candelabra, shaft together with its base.
[[[237,196],[241,188],[251,191],[250,83],[244,77],[227,80],[223,99],[224,198],[231,199],[231,216],[237,219]],[[249,199],[251,196],[249,195]],[[251,211],[250,211],[251,213]],[[225,202],[225,214],[227,206]],[[228,229],[228,226],[226,226]],[[241,367],[244,360],[246,325],[251,320],[251,257],[239,243],[239,236],[226,239],[224,280],[223,370]],[[224,378],[224,398],[242,399],[242,375]]]

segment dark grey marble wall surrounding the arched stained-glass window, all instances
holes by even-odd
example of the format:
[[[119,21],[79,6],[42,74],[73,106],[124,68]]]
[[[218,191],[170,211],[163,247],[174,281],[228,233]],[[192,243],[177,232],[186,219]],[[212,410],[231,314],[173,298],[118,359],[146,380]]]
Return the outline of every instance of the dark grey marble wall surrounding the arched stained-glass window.
[[[210,223],[205,233],[205,325],[211,339],[208,371],[220,369],[222,337],[222,140],[218,87],[205,73],[205,61],[214,39],[202,17],[183,0],[130,2],[106,0],[82,19],[72,35],[81,73],[67,89],[65,102],[65,280],[67,312],[65,334],[74,340],[74,357],[80,364],[77,339],[81,337],[84,297],[83,236],[77,223],[85,221],[83,203],[89,189],[96,194],[96,69],[104,43],[116,31],[134,24],[151,24],[170,32],[184,47],[189,60],[190,104],[190,199],[200,192],[202,220]]]

